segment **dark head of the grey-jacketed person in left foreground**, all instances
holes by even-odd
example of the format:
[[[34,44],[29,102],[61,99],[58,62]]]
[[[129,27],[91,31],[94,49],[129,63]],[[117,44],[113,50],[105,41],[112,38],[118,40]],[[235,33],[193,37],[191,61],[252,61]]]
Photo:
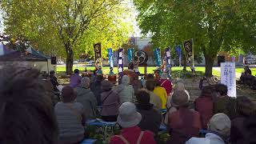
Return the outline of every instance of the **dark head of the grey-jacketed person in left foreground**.
[[[71,86],[64,86],[62,89],[62,102],[74,102],[77,97],[76,91]]]

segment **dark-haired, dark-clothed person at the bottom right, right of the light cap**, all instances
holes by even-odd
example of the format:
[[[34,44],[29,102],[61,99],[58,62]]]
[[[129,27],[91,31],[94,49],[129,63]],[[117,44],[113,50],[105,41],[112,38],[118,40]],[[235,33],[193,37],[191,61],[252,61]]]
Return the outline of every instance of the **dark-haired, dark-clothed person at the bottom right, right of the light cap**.
[[[236,98],[236,118],[231,122],[230,142],[232,144],[246,143],[246,130],[243,123],[246,118],[256,114],[255,104],[246,96]]]

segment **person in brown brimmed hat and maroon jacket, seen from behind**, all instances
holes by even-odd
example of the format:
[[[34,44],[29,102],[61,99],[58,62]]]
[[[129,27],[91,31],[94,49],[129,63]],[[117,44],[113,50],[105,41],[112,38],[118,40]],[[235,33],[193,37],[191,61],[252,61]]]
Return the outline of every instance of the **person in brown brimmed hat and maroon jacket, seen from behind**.
[[[189,109],[189,97],[184,90],[175,90],[171,105],[177,110],[168,114],[167,128],[171,136],[167,144],[184,144],[192,137],[199,136],[202,128],[200,114]]]

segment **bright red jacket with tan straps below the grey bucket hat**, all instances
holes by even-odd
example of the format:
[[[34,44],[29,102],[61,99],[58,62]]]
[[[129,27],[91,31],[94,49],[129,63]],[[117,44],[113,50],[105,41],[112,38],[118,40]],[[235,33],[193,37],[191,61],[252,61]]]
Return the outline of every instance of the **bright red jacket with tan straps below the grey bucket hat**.
[[[141,129],[138,126],[122,129],[122,136],[126,138],[130,144],[136,144],[138,137],[141,134]],[[113,136],[110,138],[110,144],[126,144],[121,138]],[[141,144],[156,144],[154,135],[149,130],[146,130],[142,136]]]

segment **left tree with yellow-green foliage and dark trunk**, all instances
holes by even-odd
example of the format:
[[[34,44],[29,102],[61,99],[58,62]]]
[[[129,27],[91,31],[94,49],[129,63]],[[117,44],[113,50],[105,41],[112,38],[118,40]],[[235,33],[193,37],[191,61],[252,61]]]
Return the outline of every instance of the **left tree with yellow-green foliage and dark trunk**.
[[[1,8],[6,34],[26,38],[48,54],[66,54],[70,74],[74,57],[92,55],[94,43],[106,49],[125,41],[132,29],[122,21],[130,12],[126,5],[122,0],[2,0]]]

